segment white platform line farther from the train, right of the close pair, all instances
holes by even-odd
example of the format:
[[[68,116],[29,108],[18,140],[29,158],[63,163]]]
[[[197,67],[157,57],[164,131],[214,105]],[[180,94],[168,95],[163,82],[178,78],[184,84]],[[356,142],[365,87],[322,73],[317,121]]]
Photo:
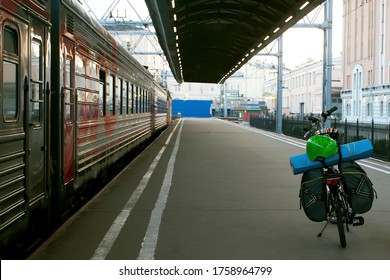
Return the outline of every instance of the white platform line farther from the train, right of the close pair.
[[[161,219],[162,219],[163,212],[165,210],[165,206],[167,204],[168,194],[171,189],[173,169],[175,166],[177,150],[179,149],[179,145],[180,145],[180,136],[181,136],[182,128],[183,128],[183,122],[180,126],[176,138],[176,142],[175,142],[175,147],[173,148],[171,158],[169,159],[168,162],[168,167],[165,173],[163,184],[161,186],[160,194],[158,196],[156,205],[154,206],[152,215],[150,217],[148,229],[146,230],[145,237],[144,237],[144,242],[142,243],[142,248],[139,252],[139,256],[138,256],[139,260],[154,259],[154,253],[156,251]]]

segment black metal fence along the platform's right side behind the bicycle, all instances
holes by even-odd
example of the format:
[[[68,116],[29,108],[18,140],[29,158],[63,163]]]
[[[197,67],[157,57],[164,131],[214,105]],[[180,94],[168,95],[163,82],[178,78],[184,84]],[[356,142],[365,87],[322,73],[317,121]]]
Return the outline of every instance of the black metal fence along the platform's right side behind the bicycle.
[[[294,117],[283,117],[283,134],[303,139],[304,128],[308,121]],[[256,128],[268,131],[276,130],[275,118],[256,118],[250,119],[250,125]],[[351,143],[357,140],[369,139],[374,147],[373,155],[376,158],[390,161],[390,124],[372,123],[348,123],[346,121],[332,120],[332,127],[339,131],[340,144]]]

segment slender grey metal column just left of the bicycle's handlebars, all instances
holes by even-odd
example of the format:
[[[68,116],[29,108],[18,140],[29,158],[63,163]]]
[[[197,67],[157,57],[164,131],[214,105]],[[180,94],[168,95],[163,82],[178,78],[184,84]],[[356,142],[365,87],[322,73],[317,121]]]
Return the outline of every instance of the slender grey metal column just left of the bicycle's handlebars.
[[[276,133],[282,134],[283,104],[283,36],[278,38],[278,87],[276,95]]]

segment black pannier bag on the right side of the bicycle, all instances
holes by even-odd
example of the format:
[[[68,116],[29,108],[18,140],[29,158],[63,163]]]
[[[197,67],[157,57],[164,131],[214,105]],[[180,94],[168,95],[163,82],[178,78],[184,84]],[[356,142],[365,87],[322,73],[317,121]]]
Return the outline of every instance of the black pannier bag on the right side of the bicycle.
[[[340,163],[340,173],[352,210],[356,214],[369,211],[376,191],[363,168],[355,161],[342,162]]]

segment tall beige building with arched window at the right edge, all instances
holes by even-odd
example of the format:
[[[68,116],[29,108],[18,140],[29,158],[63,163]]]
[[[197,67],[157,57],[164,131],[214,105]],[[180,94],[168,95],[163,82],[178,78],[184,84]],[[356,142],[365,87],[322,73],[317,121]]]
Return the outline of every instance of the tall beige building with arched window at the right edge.
[[[343,115],[388,124],[390,1],[344,0],[343,14]]]

